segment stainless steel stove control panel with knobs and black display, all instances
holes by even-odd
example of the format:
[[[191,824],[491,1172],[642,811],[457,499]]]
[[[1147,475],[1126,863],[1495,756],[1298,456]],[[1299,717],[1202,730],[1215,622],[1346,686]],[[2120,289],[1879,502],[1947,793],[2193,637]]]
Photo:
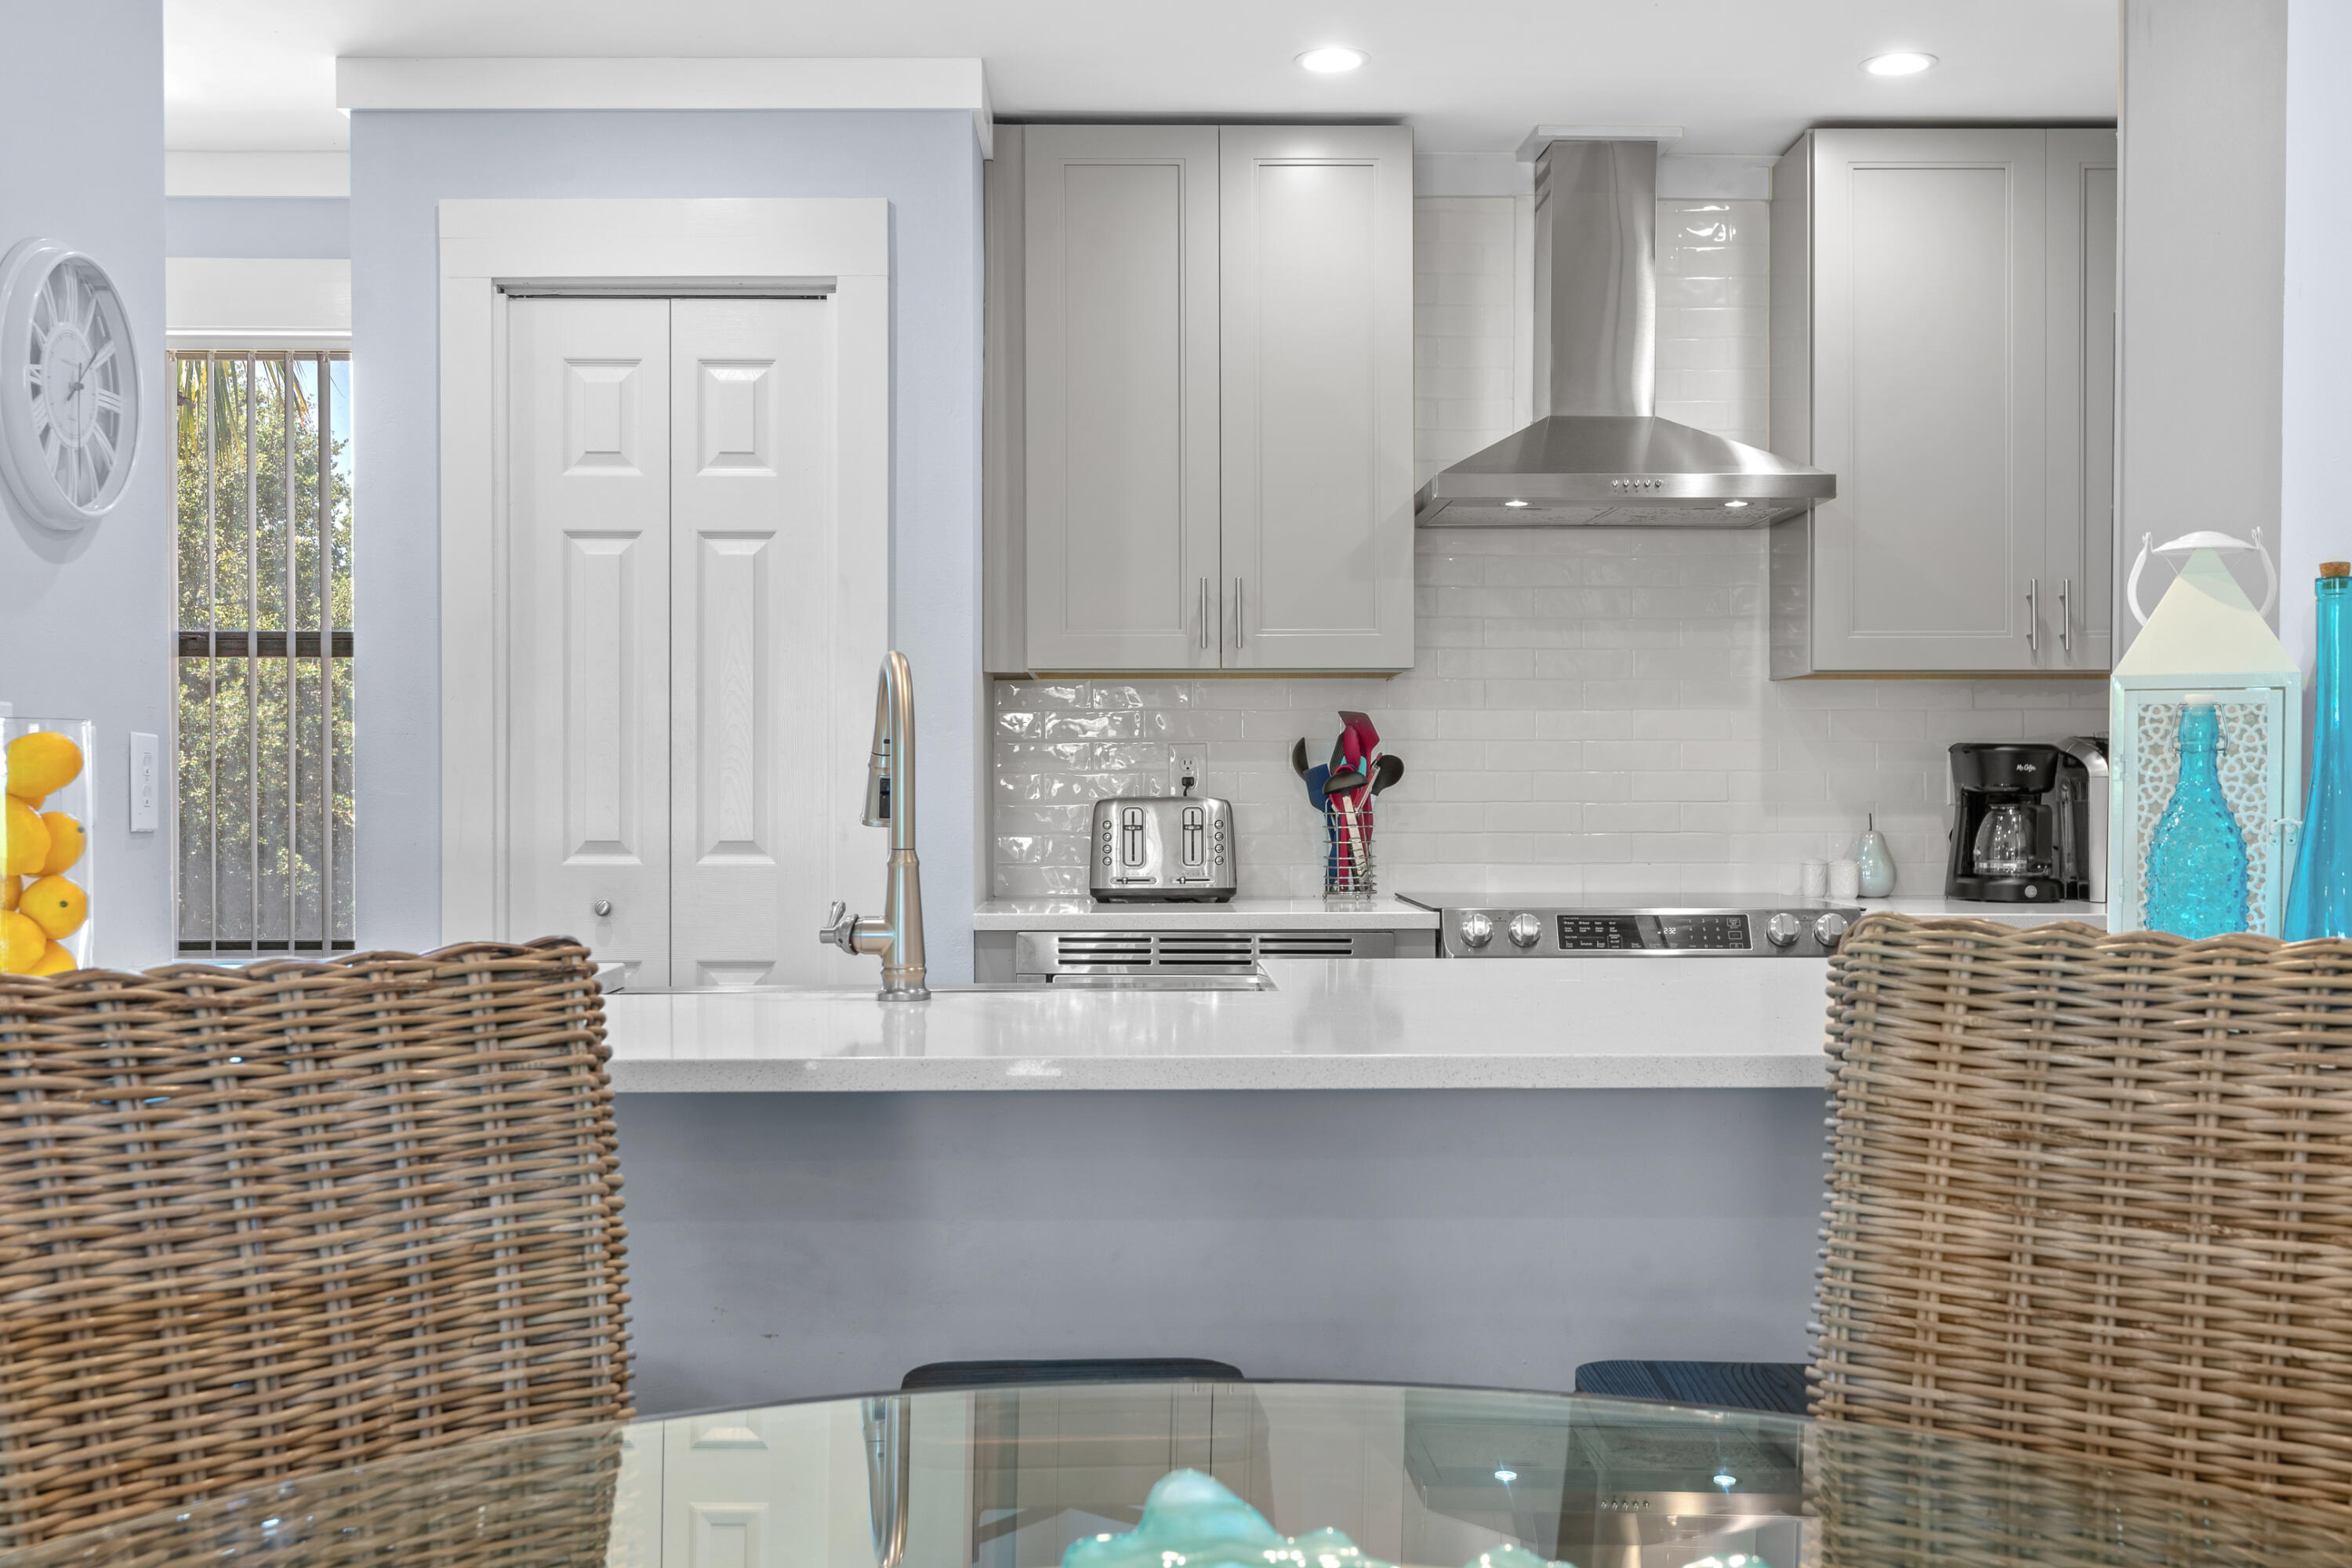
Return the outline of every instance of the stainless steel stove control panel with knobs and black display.
[[[1851,905],[1757,910],[1512,910],[1449,907],[1451,959],[1576,959],[1611,954],[1820,959],[1863,912]],[[1503,940],[1496,940],[1503,938]]]

